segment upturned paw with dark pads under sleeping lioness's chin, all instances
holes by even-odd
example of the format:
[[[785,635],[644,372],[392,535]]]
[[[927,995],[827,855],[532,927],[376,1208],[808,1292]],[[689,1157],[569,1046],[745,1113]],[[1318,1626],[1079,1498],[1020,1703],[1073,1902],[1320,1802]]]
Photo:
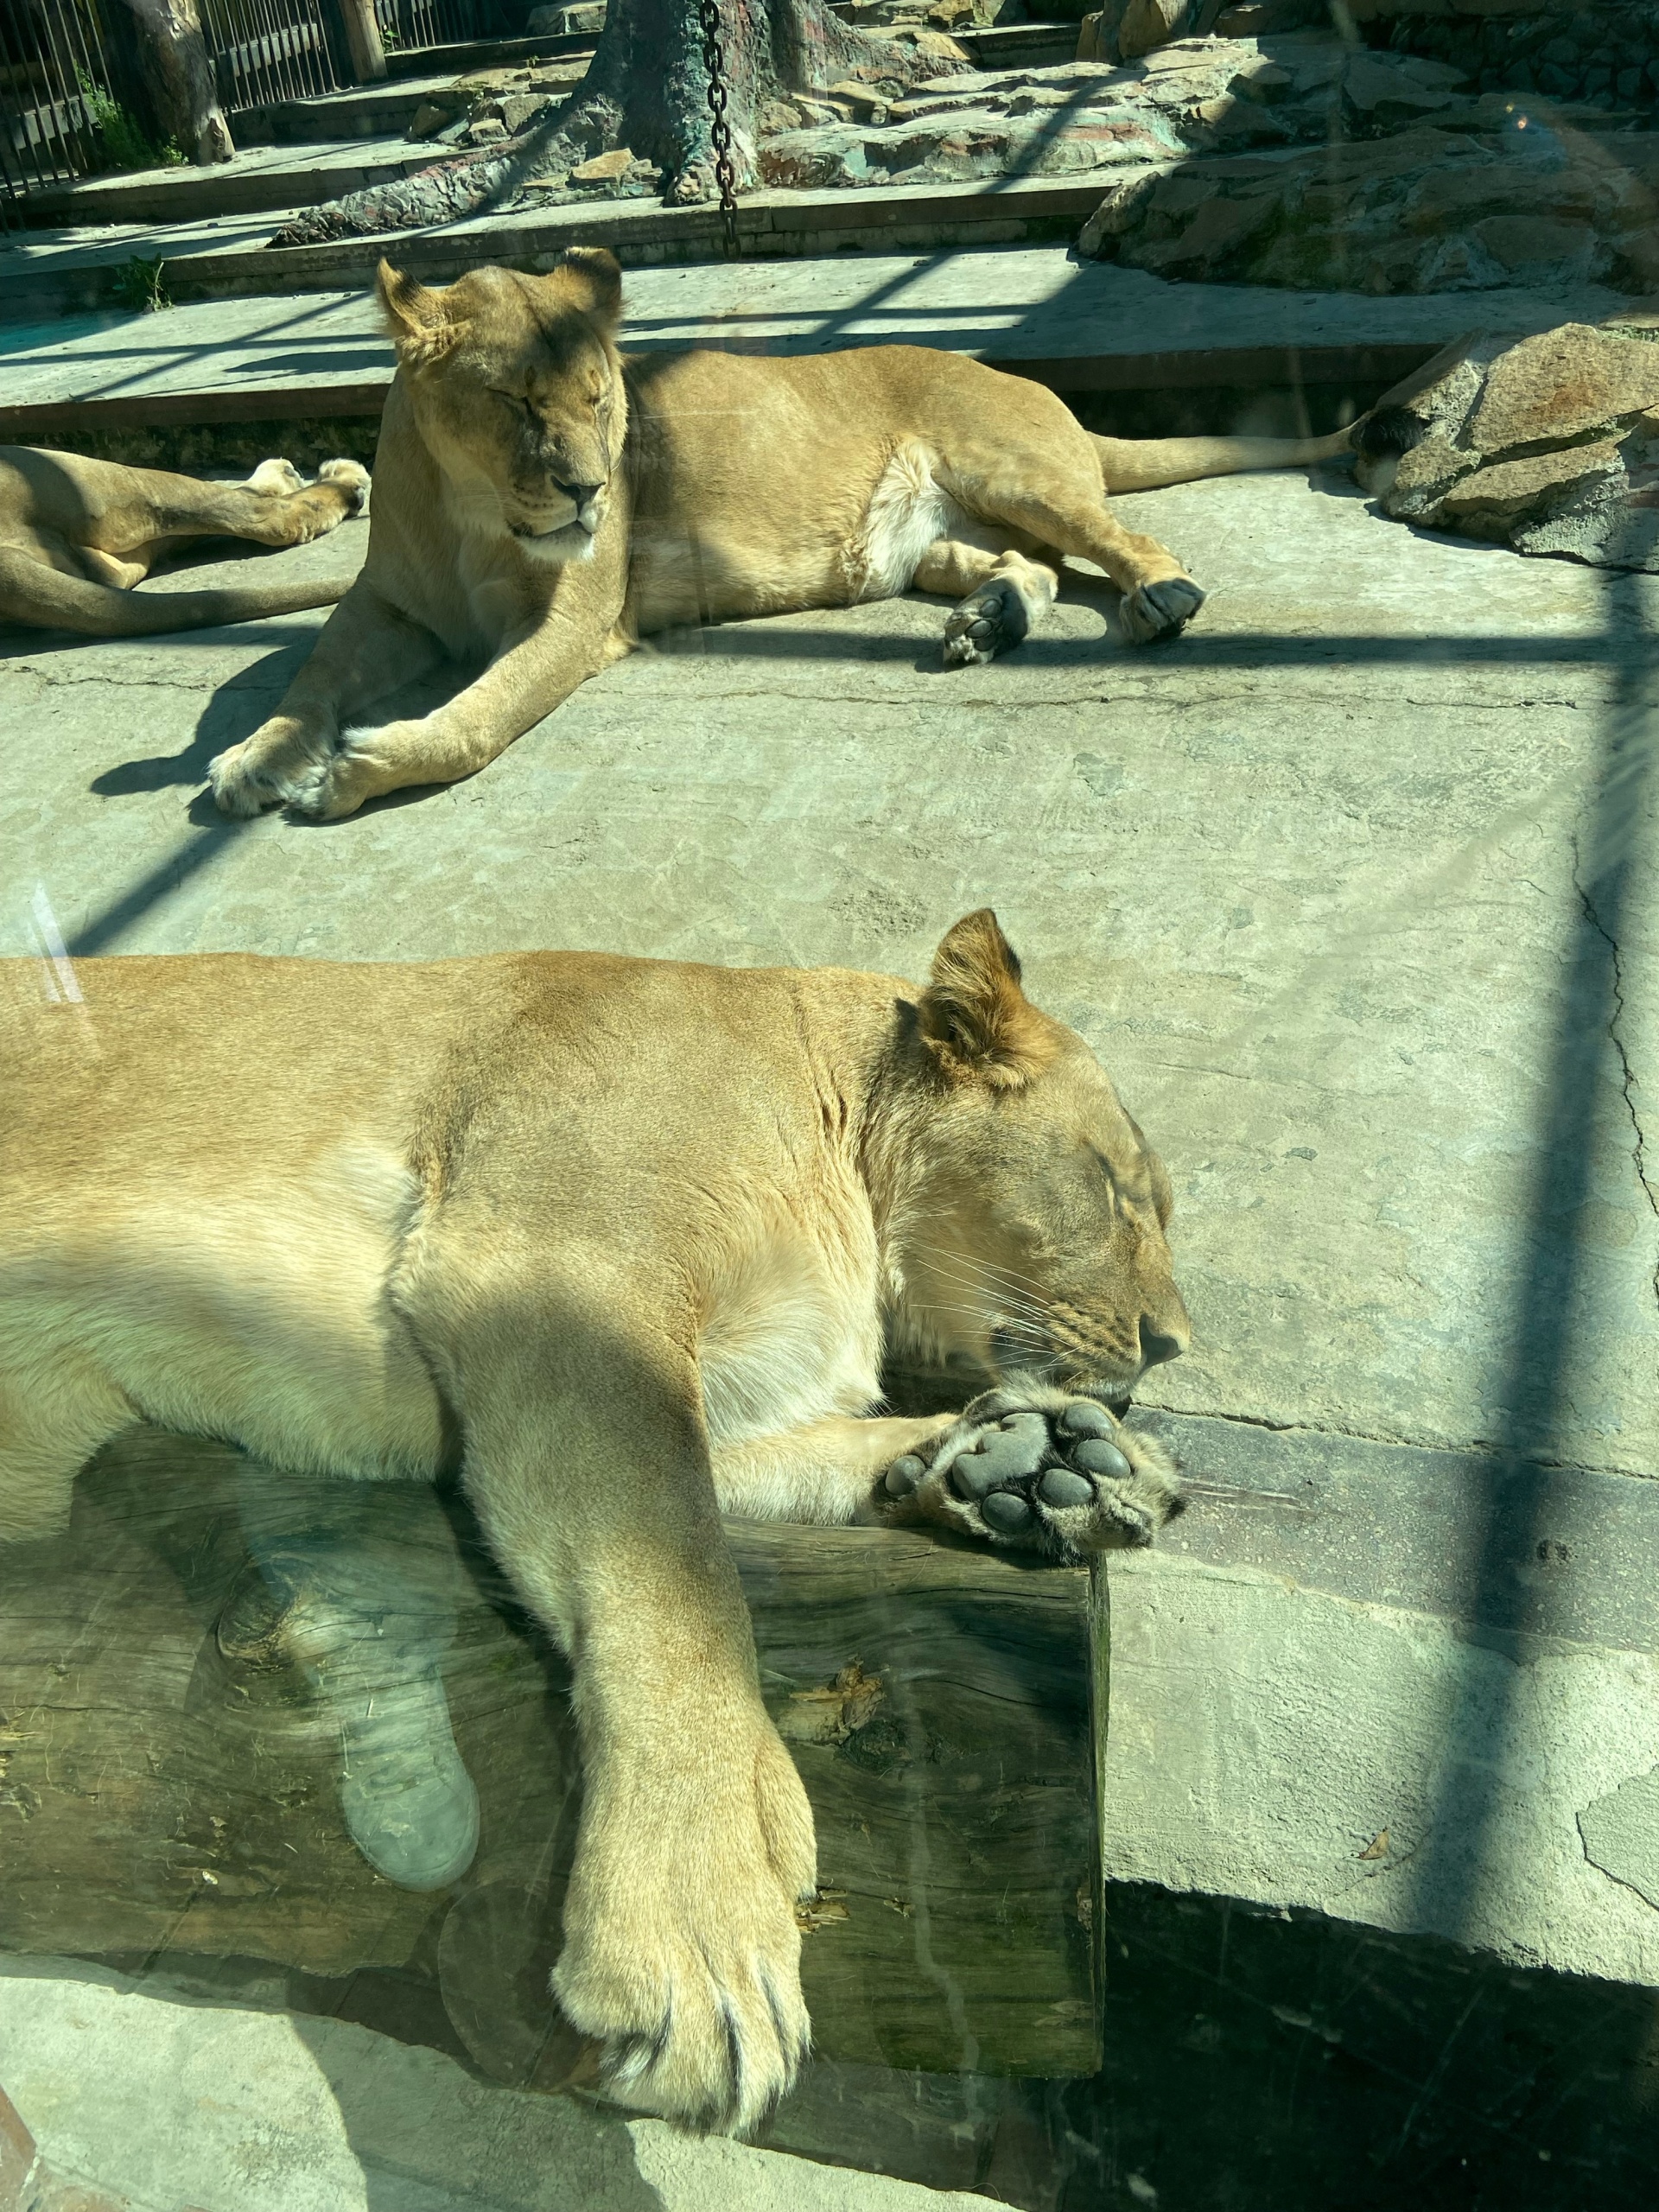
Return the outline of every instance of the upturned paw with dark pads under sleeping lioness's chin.
[[[931,1522],[1077,1564],[1150,1544],[1181,1495],[1164,1447],[1097,1398],[1013,1385],[975,1398],[927,1455],[894,1460],[876,1506],[885,1522]]]

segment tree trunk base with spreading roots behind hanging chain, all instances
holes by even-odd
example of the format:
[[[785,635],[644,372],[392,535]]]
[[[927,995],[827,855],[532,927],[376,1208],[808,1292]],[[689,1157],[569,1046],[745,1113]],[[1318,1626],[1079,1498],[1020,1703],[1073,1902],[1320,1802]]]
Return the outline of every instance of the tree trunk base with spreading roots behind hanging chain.
[[[949,40],[936,40],[933,49],[856,31],[825,0],[721,0],[721,73],[739,188],[754,181],[757,122],[770,100],[823,93],[843,80],[896,93],[964,66]],[[553,115],[538,117],[507,146],[312,208],[270,243],[319,246],[462,221],[509,206],[531,179],[568,175],[622,148],[659,173],[670,206],[714,197],[697,0],[611,0],[593,64]]]

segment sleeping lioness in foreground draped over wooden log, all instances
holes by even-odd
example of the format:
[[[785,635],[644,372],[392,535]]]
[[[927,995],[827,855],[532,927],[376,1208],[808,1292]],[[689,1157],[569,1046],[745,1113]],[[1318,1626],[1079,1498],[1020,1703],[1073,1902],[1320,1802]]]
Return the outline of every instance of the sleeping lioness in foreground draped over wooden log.
[[[1172,1471],[1108,1407],[1188,1340],[1164,1168],[989,911],[925,991],[602,953],[75,975],[0,964],[0,1537],[60,1528],[137,1420],[458,1464],[575,1668],[560,2002],[619,2099],[750,2126],[807,2046],[814,1836],[719,1513],[1146,1544]],[[1002,1387],[869,1418],[885,1340]]]

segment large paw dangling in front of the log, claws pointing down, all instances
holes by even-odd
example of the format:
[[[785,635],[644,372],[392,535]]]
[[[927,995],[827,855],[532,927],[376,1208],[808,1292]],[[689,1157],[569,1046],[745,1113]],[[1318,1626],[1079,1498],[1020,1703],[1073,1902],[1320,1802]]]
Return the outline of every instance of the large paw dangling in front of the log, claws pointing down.
[[[812,2042],[796,1922],[816,1889],[812,1809],[761,1725],[759,1741],[706,1745],[697,1776],[646,1772],[615,1796],[599,1778],[553,1969],[564,2017],[602,2044],[608,2097],[737,2135]]]

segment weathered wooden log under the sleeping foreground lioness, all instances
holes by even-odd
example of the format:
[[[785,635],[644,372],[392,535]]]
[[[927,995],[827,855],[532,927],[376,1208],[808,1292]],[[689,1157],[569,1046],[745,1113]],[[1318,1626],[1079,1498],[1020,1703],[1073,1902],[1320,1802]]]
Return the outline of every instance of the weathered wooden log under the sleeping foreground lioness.
[[[252,1511],[265,1471],[133,1431],[64,1537],[0,1551],[0,1944],[431,1975],[484,2070],[564,2086],[584,2066],[546,1993],[580,1809],[564,1663],[460,1500],[274,1480]],[[283,1562],[316,1559],[319,1528],[347,1579],[369,1562],[445,1619],[482,1812],[451,1887],[396,1887],[345,1829],[338,1710],[285,1606]],[[1093,2073],[1088,1575],[911,1533],[728,1533],[818,1820],[818,2053]]]

